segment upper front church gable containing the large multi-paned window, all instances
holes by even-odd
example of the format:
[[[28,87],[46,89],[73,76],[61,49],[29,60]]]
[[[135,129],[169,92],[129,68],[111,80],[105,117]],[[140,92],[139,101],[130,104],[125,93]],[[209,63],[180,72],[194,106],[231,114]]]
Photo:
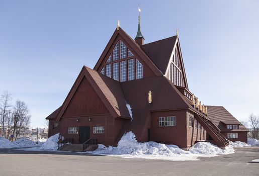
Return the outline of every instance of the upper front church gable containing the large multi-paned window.
[[[143,57],[144,55],[144,57]],[[121,28],[116,30],[95,66],[98,72],[120,82],[155,76],[155,65]],[[157,73],[160,74],[160,73]]]

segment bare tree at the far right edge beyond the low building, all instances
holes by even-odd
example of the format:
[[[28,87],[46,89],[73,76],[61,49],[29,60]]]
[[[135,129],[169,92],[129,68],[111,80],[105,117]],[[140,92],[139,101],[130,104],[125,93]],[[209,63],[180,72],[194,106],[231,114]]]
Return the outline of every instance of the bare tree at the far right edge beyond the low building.
[[[248,119],[248,124],[250,127],[249,137],[259,139],[259,116],[250,114]]]

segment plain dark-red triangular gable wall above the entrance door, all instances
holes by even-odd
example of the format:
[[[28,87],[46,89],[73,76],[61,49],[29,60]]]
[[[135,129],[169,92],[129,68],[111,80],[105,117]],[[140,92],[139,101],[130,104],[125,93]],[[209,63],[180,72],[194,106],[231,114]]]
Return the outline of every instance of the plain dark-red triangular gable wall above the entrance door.
[[[109,114],[109,111],[90,82],[83,76],[62,117],[88,116],[93,114]]]

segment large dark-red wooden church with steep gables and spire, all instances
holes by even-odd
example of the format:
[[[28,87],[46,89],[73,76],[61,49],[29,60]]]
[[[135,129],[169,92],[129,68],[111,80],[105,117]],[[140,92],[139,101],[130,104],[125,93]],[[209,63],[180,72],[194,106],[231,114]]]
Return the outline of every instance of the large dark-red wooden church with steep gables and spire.
[[[183,149],[205,140],[229,144],[188,89],[178,33],[144,44],[140,16],[134,40],[118,22],[94,69],[82,67],[62,106],[46,119],[49,136],[60,132],[73,143],[116,146],[132,131],[139,142]]]

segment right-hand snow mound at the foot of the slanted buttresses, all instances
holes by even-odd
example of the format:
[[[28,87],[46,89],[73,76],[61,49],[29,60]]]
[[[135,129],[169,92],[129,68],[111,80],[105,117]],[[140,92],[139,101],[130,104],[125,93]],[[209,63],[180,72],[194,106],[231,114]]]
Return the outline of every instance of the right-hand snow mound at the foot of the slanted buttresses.
[[[235,152],[235,150],[231,146],[226,147],[226,149],[221,149],[218,146],[209,142],[198,142],[194,144],[194,146],[192,146],[189,151],[195,154],[214,156],[216,156],[217,154],[231,154]]]

